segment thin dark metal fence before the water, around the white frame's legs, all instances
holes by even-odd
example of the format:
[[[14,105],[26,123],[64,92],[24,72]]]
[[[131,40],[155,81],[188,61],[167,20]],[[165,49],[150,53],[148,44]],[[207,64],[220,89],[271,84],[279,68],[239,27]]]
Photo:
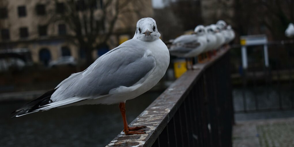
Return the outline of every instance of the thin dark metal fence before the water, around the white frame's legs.
[[[248,68],[240,68],[233,76],[235,112],[294,109],[293,41],[268,43],[268,67],[263,61],[262,46],[252,46],[248,52]],[[233,56],[233,61],[234,58],[240,60],[238,56]]]

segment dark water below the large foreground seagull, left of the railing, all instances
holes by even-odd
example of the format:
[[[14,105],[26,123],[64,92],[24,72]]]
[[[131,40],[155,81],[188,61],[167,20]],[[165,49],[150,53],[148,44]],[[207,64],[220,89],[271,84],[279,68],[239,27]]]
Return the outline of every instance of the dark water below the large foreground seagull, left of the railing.
[[[147,92],[126,102],[133,121],[161,92]],[[123,130],[118,104],[54,108],[10,119],[26,102],[0,103],[0,146],[106,146]]]

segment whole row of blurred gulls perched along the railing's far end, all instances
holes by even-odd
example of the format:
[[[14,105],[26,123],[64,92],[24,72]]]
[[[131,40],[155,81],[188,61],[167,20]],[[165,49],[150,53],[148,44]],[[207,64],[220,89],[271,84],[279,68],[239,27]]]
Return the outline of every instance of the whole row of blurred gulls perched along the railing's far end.
[[[219,49],[235,38],[235,32],[225,21],[216,24],[196,26],[193,34],[181,35],[171,41],[169,52],[173,56],[192,58],[201,53]]]

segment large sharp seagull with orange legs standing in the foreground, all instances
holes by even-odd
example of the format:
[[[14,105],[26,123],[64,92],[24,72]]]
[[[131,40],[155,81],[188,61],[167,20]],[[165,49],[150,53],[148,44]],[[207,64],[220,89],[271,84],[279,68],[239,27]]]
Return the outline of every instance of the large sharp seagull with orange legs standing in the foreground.
[[[170,56],[159,37],[154,19],[140,19],[132,39],[99,57],[86,70],[72,74],[55,89],[18,108],[13,117],[56,107],[119,103],[124,133],[146,133],[134,131],[146,126],[128,127],[125,103],[151,89],[165,74]]]

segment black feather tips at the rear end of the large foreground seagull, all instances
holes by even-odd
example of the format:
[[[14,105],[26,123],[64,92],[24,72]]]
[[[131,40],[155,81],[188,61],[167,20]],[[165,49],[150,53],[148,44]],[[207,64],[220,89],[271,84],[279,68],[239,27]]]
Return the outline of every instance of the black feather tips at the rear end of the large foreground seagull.
[[[50,91],[47,91],[39,98],[36,98],[36,99],[30,101],[29,103],[26,103],[24,106],[16,109],[15,111],[13,111],[11,113],[13,115],[11,118],[15,118],[15,117],[23,116],[23,115],[26,115],[29,113],[41,111],[41,110],[37,110],[37,109],[39,109],[40,107],[45,106],[51,102],[51,100],[50,100],[51,95],[56,91],[56,89],[52,89]],[[35,110],[37,110],[37,111],[35,111]]]

